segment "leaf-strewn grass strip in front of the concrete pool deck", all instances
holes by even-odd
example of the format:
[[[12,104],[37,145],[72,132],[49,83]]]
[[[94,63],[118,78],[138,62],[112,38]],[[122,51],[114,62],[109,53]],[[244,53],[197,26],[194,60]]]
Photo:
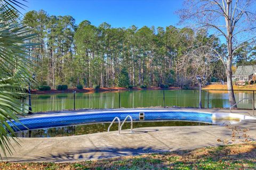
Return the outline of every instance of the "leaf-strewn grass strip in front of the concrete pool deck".
[[[77,163],[0,163],[0,169],[255,169],[256,143]]]

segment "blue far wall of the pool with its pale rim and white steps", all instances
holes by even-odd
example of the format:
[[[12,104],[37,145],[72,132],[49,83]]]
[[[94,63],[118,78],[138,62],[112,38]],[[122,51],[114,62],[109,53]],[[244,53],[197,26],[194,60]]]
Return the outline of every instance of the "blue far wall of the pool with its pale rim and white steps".
[[[140,120],[140,113],[145,116]],[[131,115],[133,121],[189,121],[210,124],[221,124],[222,120],[232,118],[233,120],[244,120],[250,116],[238,114],[207,113],[195,111],[183,111],[173,109],[105,109],[88,111],[65,111],[35,114],[30,117],[20,118],[20,122],[11,124],[14,131],[53,128],[60,126],[71,126],[79,124],[92,124],[111,122],[114,117],[121,121],[127,115]]]

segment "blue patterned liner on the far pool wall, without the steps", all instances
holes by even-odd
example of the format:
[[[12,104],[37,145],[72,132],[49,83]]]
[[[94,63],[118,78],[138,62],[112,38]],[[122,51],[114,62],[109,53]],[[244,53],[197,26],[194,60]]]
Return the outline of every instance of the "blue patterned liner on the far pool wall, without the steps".
[[[44,116],[21,118],[20,123],[14,122],[16,128],[10,123],[14,131],[53,128],[58,126],[69,126],[77,124],[111,122],[114,117],[119,117],[121,121],[127,115],[131,115],[133,121],[139,121],[138,112],[103,112],[102,113],[86,113],[85,114],[68,114],[61,116]],[[145,113],[145,121],[190,121],[212,123],[212,114],[201,112],[143,112]],[[26,126],[26,127],[25,127]]]

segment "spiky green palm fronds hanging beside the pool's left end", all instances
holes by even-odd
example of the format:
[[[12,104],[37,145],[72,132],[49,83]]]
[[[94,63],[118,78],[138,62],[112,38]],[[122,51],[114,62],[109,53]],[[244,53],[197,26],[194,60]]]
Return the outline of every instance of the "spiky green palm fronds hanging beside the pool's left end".
[[[28,49],[35,45],[26,42],[36,36],[19,23],[14,6],[24,5],[17,0],[0,0],[0,153],[4,156],[12,154],[12,140],[18,143],[11,126],[15,127],[12,121],[19,122],[19,114],[24,114],[21,98],[27,95],[33,65]]]

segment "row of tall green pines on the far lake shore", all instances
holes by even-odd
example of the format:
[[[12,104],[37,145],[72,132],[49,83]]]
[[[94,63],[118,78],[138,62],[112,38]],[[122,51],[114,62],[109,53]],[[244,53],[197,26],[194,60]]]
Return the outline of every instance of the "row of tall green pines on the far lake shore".
[[[205,75],[208,82],[226,80],[215,51],[226,53],[227,47],[205,29],[113,28],[106,22],[96,27],[87,20],[76,25],[72,16],[50,16],[43,10],[26,13],[23,23],[38,35],[29,41],[40,46],[29,53],[41,85],[188,88],[196,75]],[[248,44],[237,51],[235,61],[250,63],[254,57],[255,47]]]

